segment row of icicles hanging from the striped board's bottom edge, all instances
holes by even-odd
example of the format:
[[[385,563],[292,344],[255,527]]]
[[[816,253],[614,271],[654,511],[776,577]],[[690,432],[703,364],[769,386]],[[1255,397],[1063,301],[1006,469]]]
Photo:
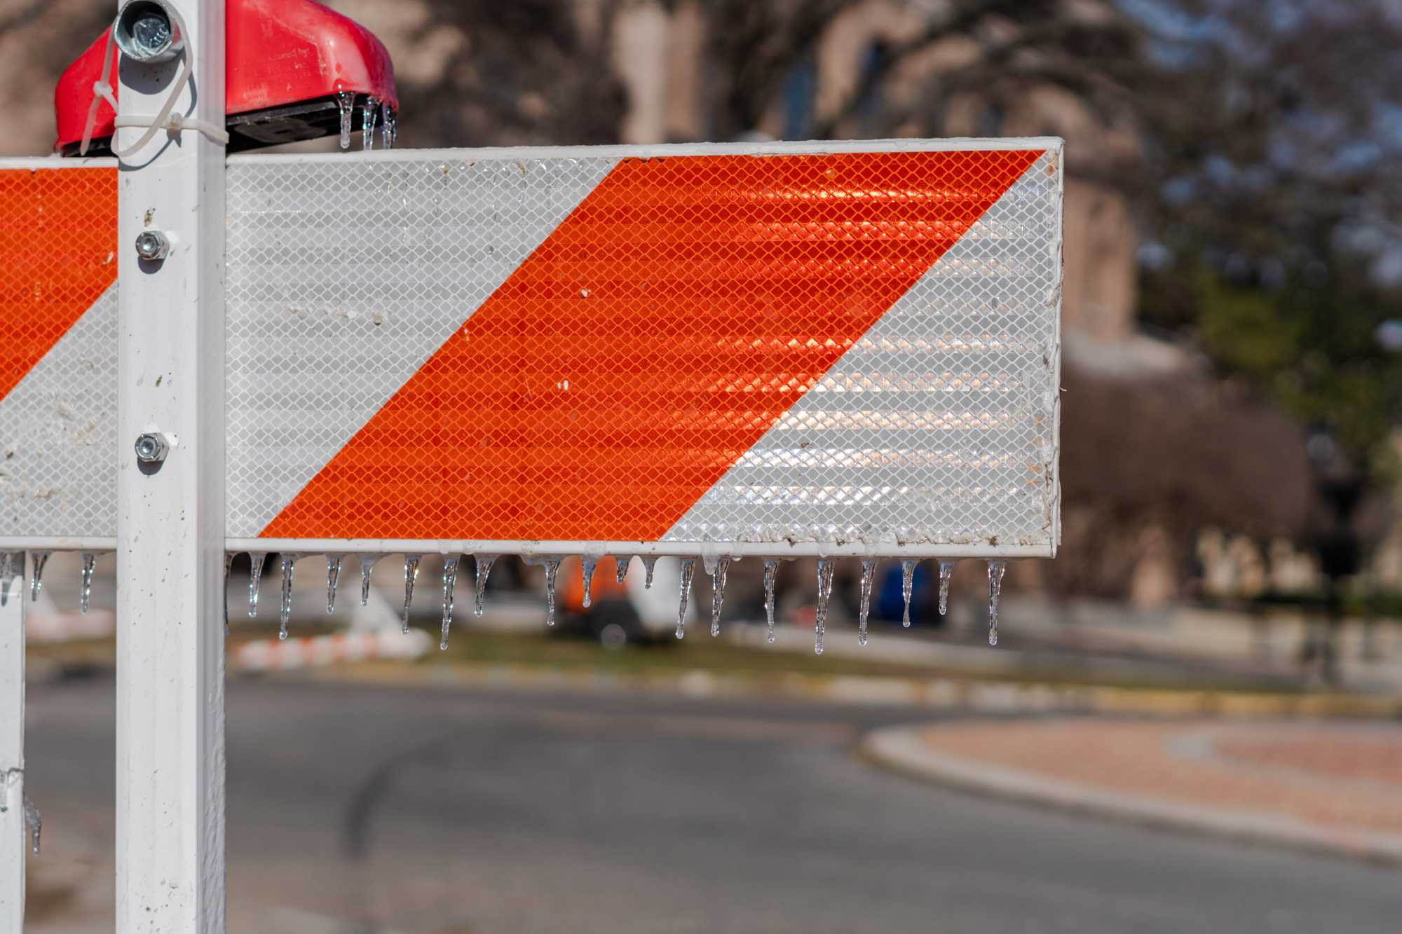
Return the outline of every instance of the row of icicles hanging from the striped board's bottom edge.
[[[49,561],[49,551],[31,551],[31,567],[34,569],[29,582],[29,599],[38,599],[39,589],[42,588],[43,565]],[[84,551],[83,554],[83,581],[81,581],[81,596],[80,609],[83,613],[88,610],[88,597],[93,592],[93,569],[97,565],[97,553]],[[258,585],[262,579],[264,561],[266,554],[261,551],[248,553],[250,561],[250,575],[248,575],[248,616],[258,616]],[[287,620],[292,616],[292,572],[293,565],[299,558],[304,555],[300,554],[282,554],[279,555],[280,571],[282,571],[282,595],[279,602],[279,620],[280,625],[278,630],[278,638],[287,638]],[[327,613],[334,613],[336,607],[336,585],[341,581],[341,565],[348,555],[342,554],[328,554],[327,555]],[[360,561],[360,606],[366,606],[370,600],[370,571],[374,564],[384,555],[380,554],[362,554]],[[443,564],[443,635],[439,641],[439,648],[447,648],[447,632],[449,627],[453,624],[453,602],[457,589],[457,571],[463,561],[461,554],[447,555]],[[496,562],[495,554],[477,554],[472,555],[477,564],[477,582],[475,582],[475,606],[472,607],[474,616],[482,616],[482,596],[486,590],[486,576],[492,572],[492,565]],[[0,606],[7,599],[8,595],[8,581],[14,576],[13,555],[10,553],[0,554]],[[224,555],[224,586],[229,586],[229,568],[234,560],[234,553]],[[409,631],[409,604],[414,600],[414,583],[419,576],[419,561],[422,555],[411,554],[404,558],[404,613],[402,613],[402,630]],[[721,606],[725,602],[725,583],[726,576],[730,571],[730,561],[736,558],[719,555],[719,557],[705,557],[702,564],[705,571],[711,575],[711,635],[721,634]],[[559,575],[559,562],[564,561],[562,557],[548,555],[548,557],[529,557],[526,558],[530,564],[541,564],[545,567],[545,624],[555,624],[555,581]],[[585,585],[585,607],[589,607],[590,597],[589,590],[594,576],[594,567],[597,564],[596,557],[583,555],[580,557],[583,585]],[[618,583],[622,583],[628,575],[628,565],[632,562],[632,555],[617,555],[618,565]],[[652,588],[652,572],[656,565],[658,558],[655,555],[641,557],[642,567],[646,571],[646,581],[644,586]],[[764,616],[768,623],[768,641],[774,641],[774,585],[778,578],[778,567],[781,558],[765,558],[764,560]],[[827,628],[827,606],[833,595],[833,568],[836,561],[833,558],[820,558],[817,562],[817,609],[815,613],[813,623],[813,651],[819,655],[823,654],[823,634]],[[906,611],[901,617],[901,625],[910,627],[910,593],[911,585],[916,575],[916,565],[920,564],[918,560],[907,558],[900,562],[900,590],[906,602]],[[695,576],[695,558],[681,560],[681,592],[680,592],[680,606],[677,607],[677,638],[684,635],[686,630],[686,616],[687,604],[691,600],[691,581]],[[944,616],[949,609],[949,579],[953,574],[953,561],[939,562],[939,614]],[[1007,571],[1007,564],[1004,561],[990,561],[988,562],[988,645],[998,644],[998,599],[1002,593],[1002,575]],[[862,581],[861,581],[861,600],[858,610],[858,624],[857,624],[857,642],[859,645],[866,645],[866,620],[871,614],[871,596],[872,596],[872,581],[876,574],[876,560],[866,558],[862,561]]]

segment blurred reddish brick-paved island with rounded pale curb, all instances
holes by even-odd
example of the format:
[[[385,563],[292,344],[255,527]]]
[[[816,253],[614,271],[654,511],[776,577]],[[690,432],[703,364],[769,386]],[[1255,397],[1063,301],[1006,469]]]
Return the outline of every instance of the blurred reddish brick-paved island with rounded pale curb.
[[[938,724],[876,731],[862,752],[980,794],[1402,865],[1395,724]]]

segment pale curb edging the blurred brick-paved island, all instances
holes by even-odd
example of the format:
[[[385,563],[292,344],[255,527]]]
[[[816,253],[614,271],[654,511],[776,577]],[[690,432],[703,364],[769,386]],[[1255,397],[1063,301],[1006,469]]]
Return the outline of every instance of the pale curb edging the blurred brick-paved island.
[[[1073,813],[1187,830],[1246,843],[1402,865],[1402,834],[1340,830],[1265,812],[1190,805],[948,756],[920,739],[920,726],[889,726],[862,739],[859,754],[904,776],[963,791]]]

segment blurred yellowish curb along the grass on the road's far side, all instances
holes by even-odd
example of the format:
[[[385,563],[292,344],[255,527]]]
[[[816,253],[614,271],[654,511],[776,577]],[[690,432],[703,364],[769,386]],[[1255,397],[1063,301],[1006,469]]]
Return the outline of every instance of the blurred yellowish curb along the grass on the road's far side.
[[[398,687],[512,687],[520,690],[667,690],[687,697],[782,696],[831,704],[917,707],[934,711],[1046,715],[1124,714],[1192,718],[1402,718],[1402,698],[1366,694],[1245,694],[1216,690],[1140,690],[1084,684],[879,677],[799,672],[559,670],[522,665],[350,663],[307,672],[317,680]]]

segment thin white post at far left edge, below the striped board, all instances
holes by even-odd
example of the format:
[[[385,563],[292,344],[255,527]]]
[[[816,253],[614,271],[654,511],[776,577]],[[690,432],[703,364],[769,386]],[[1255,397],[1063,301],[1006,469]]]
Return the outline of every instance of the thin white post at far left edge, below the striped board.
[[[0,574],[0,931],[24,930],[24,560]],[[4,555],[0,555],[0,565]],[[3,568],[0,568],[3,571]]]

